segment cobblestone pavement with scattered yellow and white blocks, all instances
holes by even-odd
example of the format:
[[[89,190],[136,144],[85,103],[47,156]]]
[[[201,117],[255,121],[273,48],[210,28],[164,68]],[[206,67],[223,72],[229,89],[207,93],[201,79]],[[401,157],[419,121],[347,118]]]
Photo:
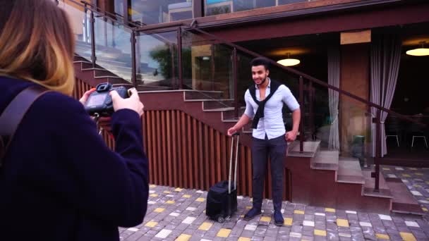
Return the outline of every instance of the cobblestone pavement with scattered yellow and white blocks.
[[[428,212],[429,169],[383,167],[383,172],[400,177]],[[249,197],[238,197],[237,213],[217,223],[205,215],[206,197],[207,192],[200,190],[151,185],[145,221],[134,228],[119,228],[121,240],[429,240],[425,218],[291,202],[283,202],[282,227],[272,221],[271,200],[265,200],[261,216],[244,221],[243,214],[251,207]]]

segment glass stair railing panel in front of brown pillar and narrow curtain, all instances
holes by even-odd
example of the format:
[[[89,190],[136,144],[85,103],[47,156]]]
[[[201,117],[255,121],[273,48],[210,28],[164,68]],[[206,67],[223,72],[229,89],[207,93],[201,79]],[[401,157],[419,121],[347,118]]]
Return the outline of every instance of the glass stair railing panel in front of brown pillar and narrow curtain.
[[[306,81],[304,97],[306,140],[320,141],[320,150],[338,153],[339,161],[351,161],[340,163],[349,172],[370,168],[375,143],[370,107],[315,82]]]

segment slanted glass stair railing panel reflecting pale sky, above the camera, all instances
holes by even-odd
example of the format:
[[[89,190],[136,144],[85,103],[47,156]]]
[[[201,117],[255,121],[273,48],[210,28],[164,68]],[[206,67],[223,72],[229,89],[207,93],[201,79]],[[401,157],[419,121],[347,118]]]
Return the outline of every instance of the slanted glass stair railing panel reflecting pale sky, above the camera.
[[[119,23],[95,15],[95,56],[99,75],[132,82],[131,31]]]

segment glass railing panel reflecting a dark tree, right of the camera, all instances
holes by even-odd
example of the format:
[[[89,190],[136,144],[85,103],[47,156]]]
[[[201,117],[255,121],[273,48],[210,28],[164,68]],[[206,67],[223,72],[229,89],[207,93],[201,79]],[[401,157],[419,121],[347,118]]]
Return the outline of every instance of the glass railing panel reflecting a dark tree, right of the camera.
[[[138,89],[177,89],[179,68],[177,32],[137,36]]]

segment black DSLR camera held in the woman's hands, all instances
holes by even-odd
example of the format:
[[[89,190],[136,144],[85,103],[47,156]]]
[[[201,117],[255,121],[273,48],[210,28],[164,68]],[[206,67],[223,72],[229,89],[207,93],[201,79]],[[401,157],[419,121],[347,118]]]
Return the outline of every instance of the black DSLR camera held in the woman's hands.
[[[101,83],[97,85],[95,92],[92,92],[88,97],[85,103],[85,111],[91,116],[96,115],[96,113],[99,116],[111,116],[114,109],[109,92],[112,90],[116,90],[123,99],[128,98],[128,91],[125,87],[113,87],[109,83]]]

